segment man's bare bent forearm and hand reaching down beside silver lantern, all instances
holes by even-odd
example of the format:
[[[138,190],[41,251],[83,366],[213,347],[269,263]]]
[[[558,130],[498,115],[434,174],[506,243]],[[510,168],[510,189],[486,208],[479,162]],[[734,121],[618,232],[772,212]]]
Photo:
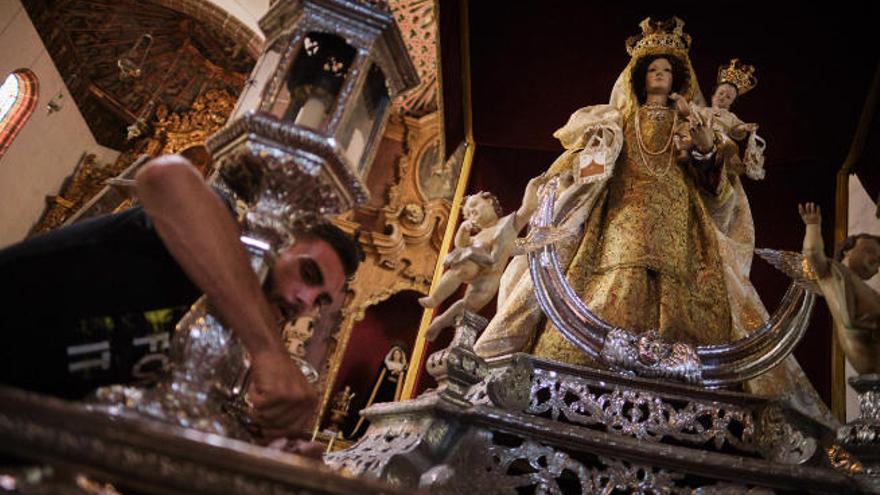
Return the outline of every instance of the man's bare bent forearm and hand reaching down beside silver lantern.
[[[251,354],[251,396],[264,431],[282,436],[305,426],[308,415],[297,412],[312,405],[314,391],[287,357],[227,208],[180,156],[150,161],[136,182],[144,210],[169,253]]]

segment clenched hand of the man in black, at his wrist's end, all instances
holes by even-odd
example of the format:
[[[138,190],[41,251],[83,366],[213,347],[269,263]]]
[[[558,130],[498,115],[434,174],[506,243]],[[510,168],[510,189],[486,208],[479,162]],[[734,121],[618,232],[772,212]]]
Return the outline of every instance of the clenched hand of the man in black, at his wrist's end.
[[[301,437],[317,402],[315,390],[284,352],[253,356],[248,391],[251,417],[263,437]]]

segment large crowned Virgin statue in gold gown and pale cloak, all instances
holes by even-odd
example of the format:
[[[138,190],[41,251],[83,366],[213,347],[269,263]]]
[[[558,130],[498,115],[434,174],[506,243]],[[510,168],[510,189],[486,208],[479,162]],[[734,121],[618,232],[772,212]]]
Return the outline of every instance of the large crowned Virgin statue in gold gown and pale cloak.
[[[609,324],[655,329],[667,340],[720,344],[761,326],[767,311],[748,279],[754,227],[739,177],[716,153],[726,136],[679,116],[676,101],[704,100],[688,58],[684,23],[641,23],[629,64],[607,105],[577,110],[557,130],[565,151],[545,172],[568,184],[556,224],[576,232],[556,244],[569,283]],[[498,311],[476,350],[527,351],[597,366],[555,330],[535,299],[525,256],[507,267]],[[747,384],[827,409],[793,358]],[[806,390],[805,392],[802,390]]]

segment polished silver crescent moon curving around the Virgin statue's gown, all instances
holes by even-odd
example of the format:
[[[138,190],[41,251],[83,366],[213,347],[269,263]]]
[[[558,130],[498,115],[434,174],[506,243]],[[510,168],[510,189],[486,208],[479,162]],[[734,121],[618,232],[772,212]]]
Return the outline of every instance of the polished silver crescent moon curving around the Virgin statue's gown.
[[[544,186],[532,228],[553,228],[558,185],[558,179],[552,179]],[[616,370],[710,388],[741,383],[782,362],[803,337],[815,302],[812,292],[792,283],[779,308],[748,337],[707,346],[668,343],[656,338],[656,333],[638,335],[593,314],[566,280],[552,244],[529,253],[528,259],[541,309],[589,357]]]

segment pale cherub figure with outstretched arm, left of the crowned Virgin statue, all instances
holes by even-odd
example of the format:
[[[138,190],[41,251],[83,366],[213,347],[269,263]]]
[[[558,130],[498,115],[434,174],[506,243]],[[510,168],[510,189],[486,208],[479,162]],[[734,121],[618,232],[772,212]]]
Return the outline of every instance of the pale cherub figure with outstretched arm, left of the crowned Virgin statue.
[[[419,299],[419,304],[435,308],[461,284],[467,283],[468,287],[463,298],[434,319],[425,334],[428,340],[433,341],[463,311],[477,313],[495,297],[501,274],[514,254],[516,236],[537,208],[537,190],[544,182],[543,176],[529,181],[522,206],[504,217],[498,198],[490,192],[481,191],[465,198],[464,221],[455,233],[455,249],[443,260],[447,271],[431,295]]]

